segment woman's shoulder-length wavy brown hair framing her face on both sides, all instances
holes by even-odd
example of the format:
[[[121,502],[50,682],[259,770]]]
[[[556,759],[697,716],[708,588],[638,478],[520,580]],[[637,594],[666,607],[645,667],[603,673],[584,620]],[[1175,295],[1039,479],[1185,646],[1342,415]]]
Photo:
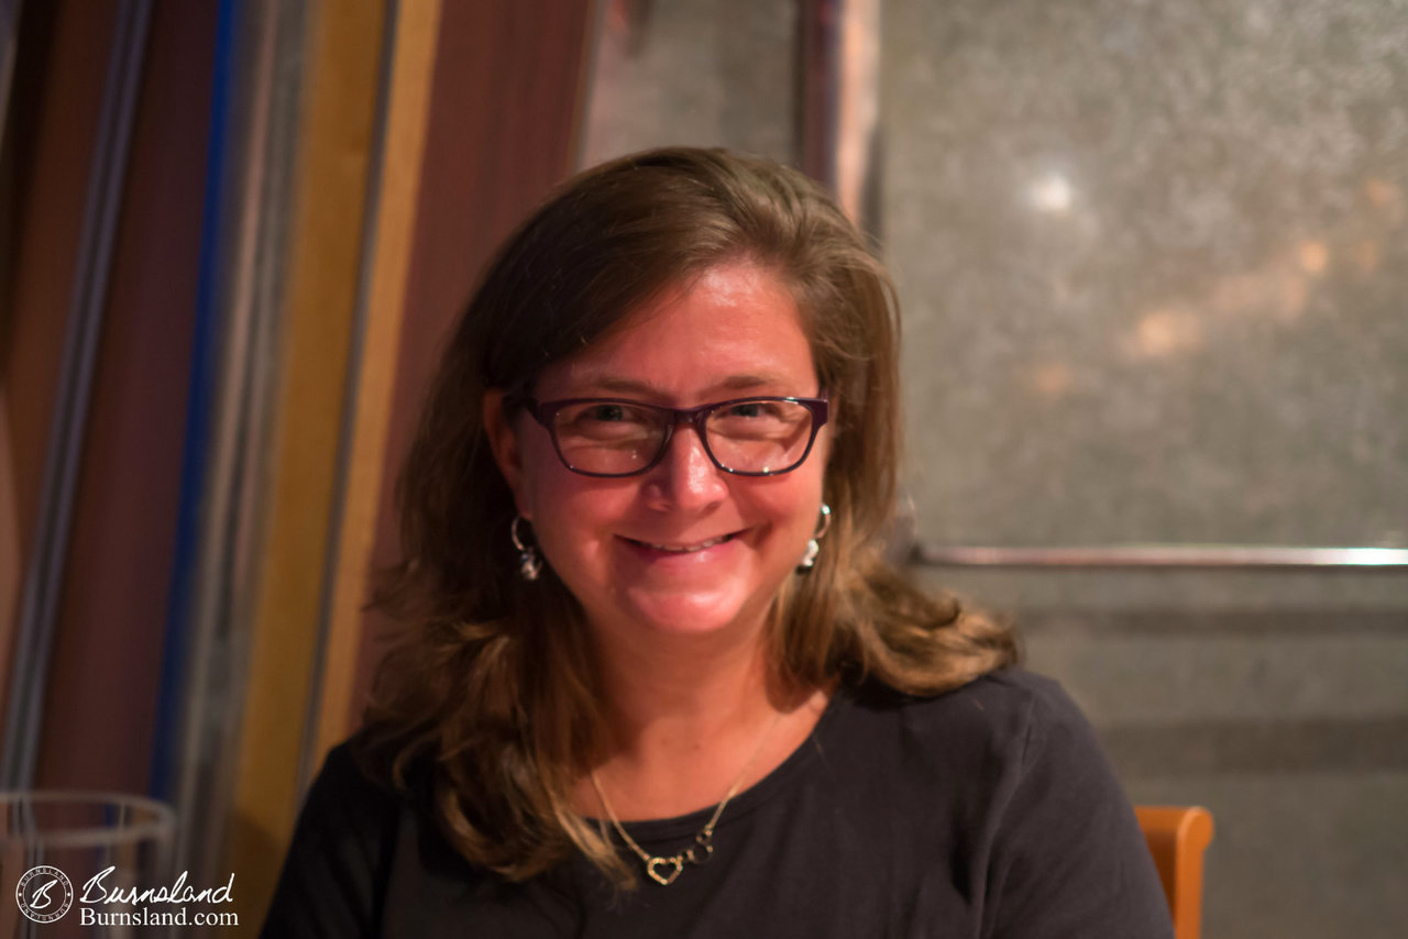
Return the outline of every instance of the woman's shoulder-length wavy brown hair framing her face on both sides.
[[[769,617],[784,687],[879,680],[936,694],[1011,664],[1008,628],[912,587],[883,559],[898,462],[898,339],[884,266],[832,198],[797,170],[719,149],[625,156],[569,180],[500,248],[428,391],[397,507],[404,560],[377,604],[406,628],[383,662],[367,739],[404,786],[428,764],[434,812],[469,862],[522,880],[582,850],[634,876],[572,805],[600,757],[598,677],[583,614],[543,569],[517,573],[514,497],[482,401],[531,391],[652,296],[711,266],[774,273],[803,315],[832,403],[815,569]]]

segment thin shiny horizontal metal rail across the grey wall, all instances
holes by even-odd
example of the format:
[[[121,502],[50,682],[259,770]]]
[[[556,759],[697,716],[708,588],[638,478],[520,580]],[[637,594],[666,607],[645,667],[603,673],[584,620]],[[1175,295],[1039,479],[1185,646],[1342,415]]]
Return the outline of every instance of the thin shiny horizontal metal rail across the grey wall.
[[[915,545],[924,567],[1086,567],[1204,570],[1408,570],[1405,548],[1277,548],[1262,545],[1097,545],[935,548]]]

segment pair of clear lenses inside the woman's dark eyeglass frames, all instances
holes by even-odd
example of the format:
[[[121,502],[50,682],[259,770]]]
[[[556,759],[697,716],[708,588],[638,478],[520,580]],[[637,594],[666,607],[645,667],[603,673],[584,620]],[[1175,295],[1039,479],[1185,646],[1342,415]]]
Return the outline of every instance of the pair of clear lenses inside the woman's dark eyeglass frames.
[[[553,435],[576,470],[634,473],[655,462],[672,420],[649,404],[580,401],[556,412]],[[704,445],[724,469],[779,473],[805,456],[811,421],[811,410],[796,401],[734,401],[708,414]]]

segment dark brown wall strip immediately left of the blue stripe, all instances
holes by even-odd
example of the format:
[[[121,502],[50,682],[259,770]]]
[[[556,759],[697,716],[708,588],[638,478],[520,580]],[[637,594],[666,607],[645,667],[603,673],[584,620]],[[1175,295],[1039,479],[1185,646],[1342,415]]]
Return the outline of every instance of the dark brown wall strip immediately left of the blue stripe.
[[[37,774],[44,787],[142,793],[149,784],[180,493],[214,20],[210,4],[161,3],[151,23],[55,624],[44,722],[61,732],[44,733]],[[101,72],[106,53],[96,59]]]

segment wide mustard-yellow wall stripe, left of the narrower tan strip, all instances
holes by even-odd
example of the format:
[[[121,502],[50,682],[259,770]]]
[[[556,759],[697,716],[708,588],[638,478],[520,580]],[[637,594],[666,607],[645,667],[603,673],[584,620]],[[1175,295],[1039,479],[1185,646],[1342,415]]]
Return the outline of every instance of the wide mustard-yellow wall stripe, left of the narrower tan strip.
[[[248,922],[268,905],[301,797],[380,73],[382,3],[325,0],[310,4],[310,15],[270,510],[224,849]]]

